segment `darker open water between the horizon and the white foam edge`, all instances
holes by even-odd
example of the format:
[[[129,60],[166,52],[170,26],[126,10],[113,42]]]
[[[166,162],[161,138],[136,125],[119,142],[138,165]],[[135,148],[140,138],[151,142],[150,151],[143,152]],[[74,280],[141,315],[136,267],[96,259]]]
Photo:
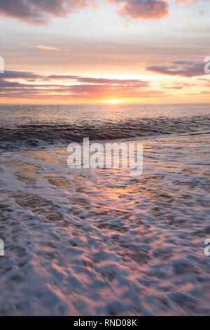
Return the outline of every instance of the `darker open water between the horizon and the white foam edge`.
[[[0,147],[210,131],[209,104],[0,105]]]

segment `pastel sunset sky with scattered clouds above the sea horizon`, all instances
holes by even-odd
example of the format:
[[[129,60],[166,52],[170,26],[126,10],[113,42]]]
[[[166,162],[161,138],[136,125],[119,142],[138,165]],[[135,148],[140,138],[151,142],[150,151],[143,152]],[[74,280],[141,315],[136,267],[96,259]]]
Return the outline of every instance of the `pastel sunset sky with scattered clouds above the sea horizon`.
[[[209,0],[0,0],[0,103],[209,103],[209,11]]]

